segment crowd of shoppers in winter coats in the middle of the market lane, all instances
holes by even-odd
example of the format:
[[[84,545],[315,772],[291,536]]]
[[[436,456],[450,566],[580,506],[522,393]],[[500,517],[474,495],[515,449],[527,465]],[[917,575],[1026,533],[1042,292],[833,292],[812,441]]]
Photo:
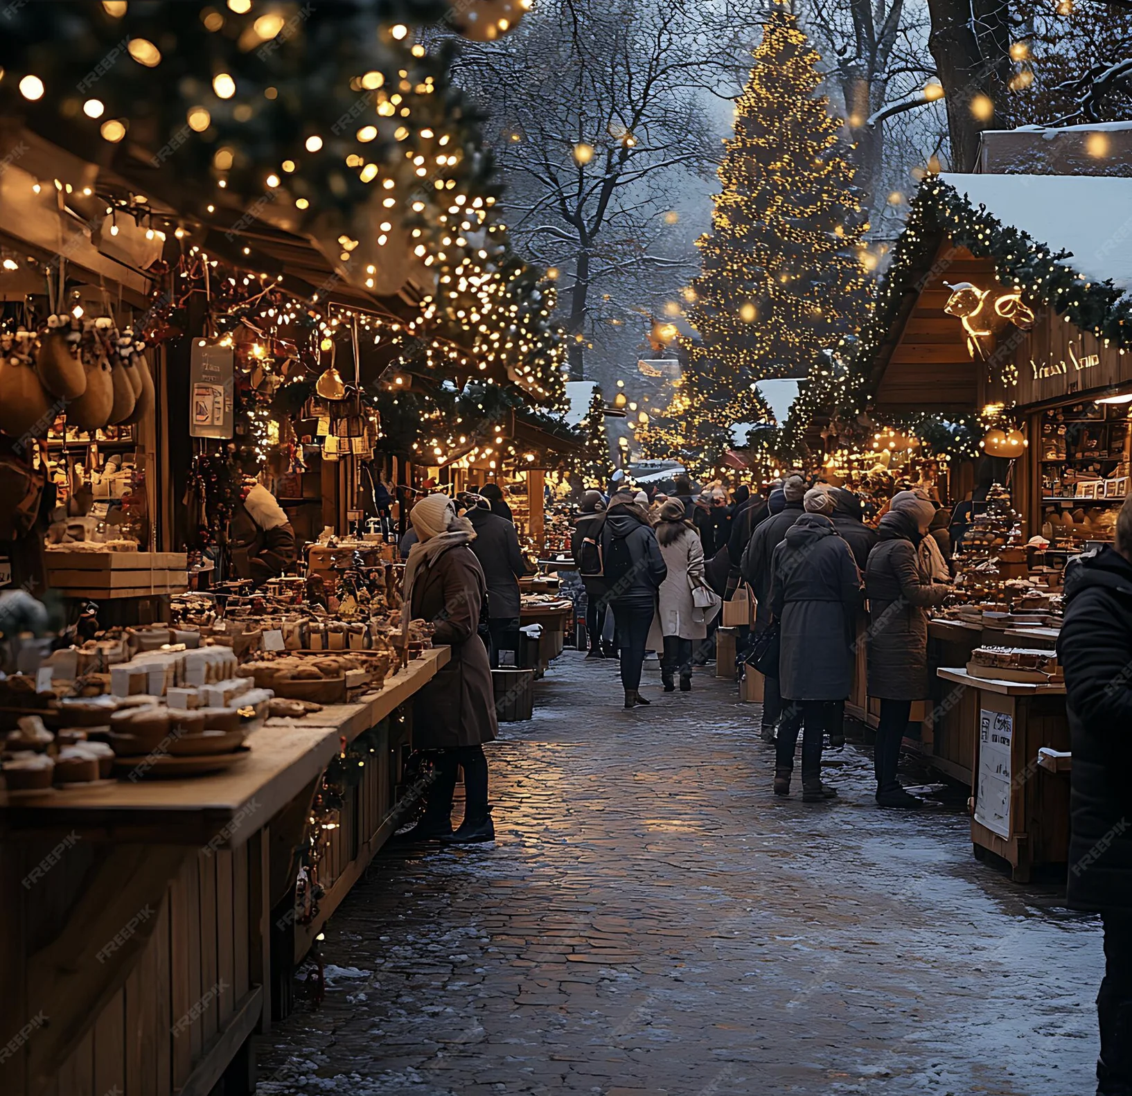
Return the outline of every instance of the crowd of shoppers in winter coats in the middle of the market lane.
[[[857,652],[867,644],[869,695],[881,702],[874,751],[876,802],[915,808],[897,774],[916,700],[929,695],[927,610],[951,592],[951,515],[920,489],[900,491],[873,529],[860,499],[820,477],[789,474],[769,490],[697,489],[678,477],[670,496],[621,490],[582,498],[572,541],[588,596],[588,658],[602,658],[607,610],[616,623],[625,707],[641,693],[646,651],[660,654],[666,692],[692,688],[707,657],[713,614],[695,591],[755,600],[752,635],[770,636],[775,673],[763,683],[761,736],[777,745],[774,790],[789,795],[801,737],[803,798],[835,793],[821,781],[822,751],[844,743],[844,707]],[[866,603],[868,615],[866,615]]]

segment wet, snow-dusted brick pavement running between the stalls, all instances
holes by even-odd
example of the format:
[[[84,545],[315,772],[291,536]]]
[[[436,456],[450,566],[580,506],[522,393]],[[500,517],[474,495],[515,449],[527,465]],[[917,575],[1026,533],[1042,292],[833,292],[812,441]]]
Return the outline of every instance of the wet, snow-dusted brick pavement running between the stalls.
[[[850,745],[840,802],[777,799],[703,671],[633,712],[575,652],[538,688],[489,747],[495,846],[375,862],[259,1096],[1091,1091],[1099,925],[975,862],[955,795],[878,811]]]

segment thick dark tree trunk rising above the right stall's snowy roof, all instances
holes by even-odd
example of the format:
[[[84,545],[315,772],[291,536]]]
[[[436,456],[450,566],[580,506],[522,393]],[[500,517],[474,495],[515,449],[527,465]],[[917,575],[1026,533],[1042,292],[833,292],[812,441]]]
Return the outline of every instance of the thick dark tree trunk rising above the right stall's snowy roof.
[[[954,171],[972,171],[984,129],[1010,125],[1010,28],[1003,0],[927,0],[932,15],[928,49],[935,59],[947,108]],[[980,29],[977,33],[976,26]],[[990,117],[978,118],[972,104],[986,96]]]

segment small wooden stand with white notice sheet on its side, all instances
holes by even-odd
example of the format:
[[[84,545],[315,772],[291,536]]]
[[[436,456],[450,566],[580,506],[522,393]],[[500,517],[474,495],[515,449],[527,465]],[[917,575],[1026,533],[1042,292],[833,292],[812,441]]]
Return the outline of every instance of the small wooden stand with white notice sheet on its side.
[[[1070,750],[1065,686],[986,680],[944,667],[938,676],[974,700],[971,840],[1007,860],[1024,883],[1043,865],[1069,858],[1069,776],[1038,763],[1043,746]]]

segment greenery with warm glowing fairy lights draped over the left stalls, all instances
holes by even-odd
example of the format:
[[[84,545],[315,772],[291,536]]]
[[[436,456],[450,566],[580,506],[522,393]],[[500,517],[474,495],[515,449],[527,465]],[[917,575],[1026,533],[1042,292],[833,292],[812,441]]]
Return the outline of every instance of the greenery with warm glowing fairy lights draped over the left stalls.
[[[252,0],[50,7],[12,8],[0,106],[127,177],[119,153],[129,145],[137,159],[142,142],[162,200],[93,194],[18,163],[8,170],[36,195],[53,182],[93,228],[104,208],[111,234],[132,221],[173,246],[155,316],[204,293],[206,333],[250,332],[260,352],[247,361],[268,389],[309,380],[327,356],[365,344],[389,366],[362,396],[411,402],[418,429],[406,445],[429,463],[515,456],[504,425],[516,409],[561,425],[552,280],[511,247],[474,111],[451,83],[451,45],[427,48],[411,28],[444,20],[491,38],[530,0],[395,0],[335,12]],[[146,79],[158,82],[155,94],[139,96]],[[333,267],[326,285],[309,292],[276,274],[256,246],[260,224],[310,239]],[[25,262],[6,252],[3,269]],[[337,303],[337,285],[368,292],[372,305]],[[452,393],[465,391],[461,410]],[[274,436],[271,413],[263,400],[247,413],[261,447]]]

